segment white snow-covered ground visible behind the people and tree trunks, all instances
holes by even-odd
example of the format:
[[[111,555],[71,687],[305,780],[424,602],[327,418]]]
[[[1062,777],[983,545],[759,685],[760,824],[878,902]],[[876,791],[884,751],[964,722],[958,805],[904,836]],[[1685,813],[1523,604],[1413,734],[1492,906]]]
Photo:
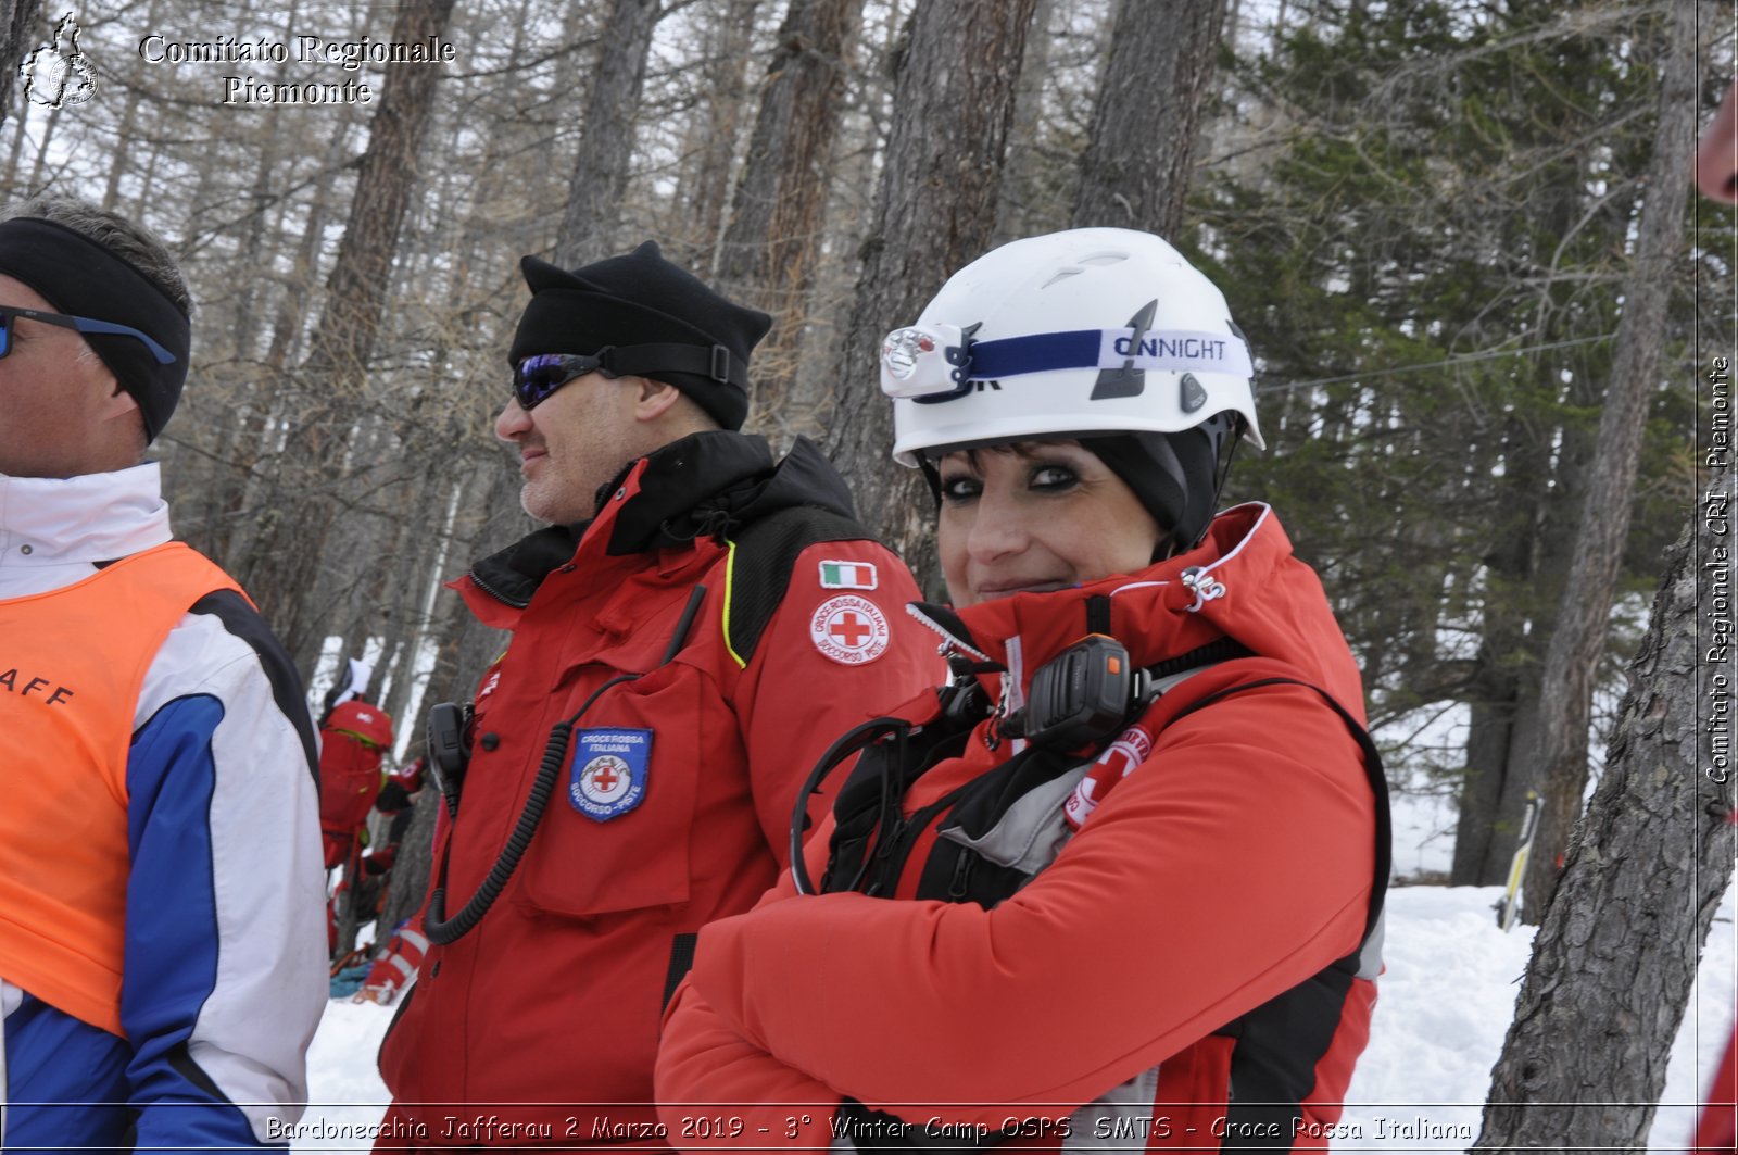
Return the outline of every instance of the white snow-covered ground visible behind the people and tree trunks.
[[[1357,1063],[1337,1152],[1455,1152],[1477,1136],[1479,1105],[1514,1011],[1531,931],[1496,929],[1495,887],[1399,887],[1389,892],[1387,974]],[[1712,1078],[1731,1030],[1735,998],[1735,901],[1715,917],[1698,986],[1672,1051],[1653,1148],[1682,1150],[1693,1103]],[[309,1054],[309,1096],[297,1152],[367,1150],[346,1125],[377,1122],[386,1089],[374,1054],[391,1009],[332,1002]],[[560,1061],[560,1056],[551,1056]],[[575,1096],[580,1098],[580,1096]],[[1357,1132],[1352,1136],[1350,1132]],[[351,1131],[349,1134],[355,1134]]]

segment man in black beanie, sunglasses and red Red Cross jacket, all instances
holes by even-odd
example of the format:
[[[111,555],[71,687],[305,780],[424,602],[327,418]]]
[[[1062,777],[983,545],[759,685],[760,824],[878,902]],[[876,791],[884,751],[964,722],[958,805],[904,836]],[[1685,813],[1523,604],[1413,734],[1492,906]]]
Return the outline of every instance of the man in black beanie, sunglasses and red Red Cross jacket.
[[[457,816],[381,1049],[382,1143],[680,1141],[652,1061],[695,932],[787,866],[833,738],[944,671],[826,457],[739,431],[765,313],[652,242],[521,270],[495,435],[551,525],[455,583],[513,640],[445,767]],[[494,1122],[454,1132],[443,1103]]]

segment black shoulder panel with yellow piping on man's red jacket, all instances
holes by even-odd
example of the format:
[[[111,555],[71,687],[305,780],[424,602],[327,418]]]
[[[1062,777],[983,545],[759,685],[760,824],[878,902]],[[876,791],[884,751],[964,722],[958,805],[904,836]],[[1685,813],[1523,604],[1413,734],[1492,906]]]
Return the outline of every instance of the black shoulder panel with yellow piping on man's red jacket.
[[[874,541],[864,525],[820,506],[787,506],[742,525],[726,544],[725,647],[747,666],[791,586],[798,555],[822,541]]]

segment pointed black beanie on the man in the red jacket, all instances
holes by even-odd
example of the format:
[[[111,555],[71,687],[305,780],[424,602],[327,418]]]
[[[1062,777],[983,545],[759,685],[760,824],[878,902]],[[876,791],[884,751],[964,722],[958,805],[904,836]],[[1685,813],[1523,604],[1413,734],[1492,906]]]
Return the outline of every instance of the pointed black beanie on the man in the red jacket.
[[[520,271],[532,299],[509,364],[534,353],[603,357],[603,372],[674,384],[723,428],[742,428],[749,353],[772,327],[766,313],[718,296],[652,240],[572,271],[525,257]]]

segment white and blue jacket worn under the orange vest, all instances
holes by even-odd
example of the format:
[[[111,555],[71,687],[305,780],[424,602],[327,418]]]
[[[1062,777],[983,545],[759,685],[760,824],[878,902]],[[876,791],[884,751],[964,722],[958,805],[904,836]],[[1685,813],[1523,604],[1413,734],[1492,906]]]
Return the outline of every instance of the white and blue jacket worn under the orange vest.
[[[0,598],[169,539],[156,464],[0,475]],[[0,974],[9,1155],[287,1146],[327,993],[316,762],[282,645],[240,595],[200,598],[134,711],[125,1038]]]

